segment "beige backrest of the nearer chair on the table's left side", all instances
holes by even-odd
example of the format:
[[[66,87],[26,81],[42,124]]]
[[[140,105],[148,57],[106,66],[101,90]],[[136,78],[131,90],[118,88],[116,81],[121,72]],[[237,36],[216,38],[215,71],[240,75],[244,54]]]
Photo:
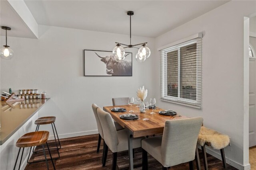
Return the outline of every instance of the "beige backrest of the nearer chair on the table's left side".
[[[113,119],[109,113],[102,110],[100,107],[98,107],[97,113],[100,119],[100,123],[102,125],[104,141],[108,145],[108,148],[112,152],[115,152],[118,145],[118,135]]]

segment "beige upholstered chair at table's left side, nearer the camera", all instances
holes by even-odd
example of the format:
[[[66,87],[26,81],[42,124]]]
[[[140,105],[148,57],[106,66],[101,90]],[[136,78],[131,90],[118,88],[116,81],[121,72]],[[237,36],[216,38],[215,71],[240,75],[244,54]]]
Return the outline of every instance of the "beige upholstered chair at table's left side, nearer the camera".
[[[128,134],[126,129],[116,131],[114,122],[112,121],[112,117],[109,113],[102,110],[100,107],[98,107],[97,113],[102,125],[105,141],[105,151],[102,166],[104,167],[106,164],[108,149],[110,149],[112,151],[112,170],[115,170],[117,152],[128,150]],[[142,139],[144,139],[144,137],[134,138],[132,140],[133,148],[141,147]]]

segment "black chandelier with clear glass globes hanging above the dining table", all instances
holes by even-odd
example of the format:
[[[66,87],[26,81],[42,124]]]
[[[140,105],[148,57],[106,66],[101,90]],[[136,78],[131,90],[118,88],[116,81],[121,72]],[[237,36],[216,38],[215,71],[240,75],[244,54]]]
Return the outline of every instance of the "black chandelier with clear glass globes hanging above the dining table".
[[[146,47],[147,43],[140,43],[140,44],[136,44],[136,45],[131,44],[131,37],[132,37],[131,36],[131,33],[132,33],[132,31],[131,31],[131,16],[134,15],[134,12],[128,11],[127,15],[130,16],[130,45],[116,42],[116,47],[113,49],[113,55],[114,55],[116,61],[122,61],[125,58],[125,51],[124,51],[125,48],[127,48],[127,47],[133,48],[137,45],[142,45],[142,47],[140,47],[140,48],[135,47],[135,48],[139,49],[138,53],[135,55],[135,58],[138,62],[144,62],[150,56],[150,49],[148,47]],[[121,45],[125,45],[126,47],[123,48],[123,47],[121,47]]]

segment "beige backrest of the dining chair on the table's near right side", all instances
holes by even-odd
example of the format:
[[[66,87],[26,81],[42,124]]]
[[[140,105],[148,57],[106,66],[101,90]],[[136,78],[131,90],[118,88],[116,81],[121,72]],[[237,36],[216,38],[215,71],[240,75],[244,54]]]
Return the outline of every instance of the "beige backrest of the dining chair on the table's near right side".
[[[164,166],[174,166],[194,160],[202,117],[165,122],[161,154]]]

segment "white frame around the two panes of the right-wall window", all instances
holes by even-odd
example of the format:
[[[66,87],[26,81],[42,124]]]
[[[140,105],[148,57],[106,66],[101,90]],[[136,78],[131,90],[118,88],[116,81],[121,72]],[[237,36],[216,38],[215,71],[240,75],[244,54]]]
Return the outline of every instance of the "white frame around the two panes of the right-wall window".
[[[167,60],[167,51],[170,52],[174,50],[179,50],[180,47],[184,47],[193,43],[197,43],[197,56],[196,56],[196,100],[190,100],[180,97],[174,97],[174,96],[167,96],[167,64],[163,60]],[[200,45],[200,48],[198,48],[198,44]],[[160,51],[160,88],[161,88],[161,94],[160,94],[160,100],[166,101],[166,102],[172,102],[176,104],[181,104],[185,106],[195,107],[198,109],[201,109],[201,82],[202,82],[202,34],[198,33],[195,35],[192,35],[190,37],[181,39],[179,41],[176,41],[174,43],[170,43],[168,45],[165,45],[163,47],[158,48],[158,51]],[[198,50],[199,49],[199,50]],[[162,56],[161,56],[162,54]],[[178,75],[180,73],[180,53],[178,52]],[[180,82],[180,76],[178,76],[178,83]],[[178,96],[180,96],[180,86],[178,85]]]

